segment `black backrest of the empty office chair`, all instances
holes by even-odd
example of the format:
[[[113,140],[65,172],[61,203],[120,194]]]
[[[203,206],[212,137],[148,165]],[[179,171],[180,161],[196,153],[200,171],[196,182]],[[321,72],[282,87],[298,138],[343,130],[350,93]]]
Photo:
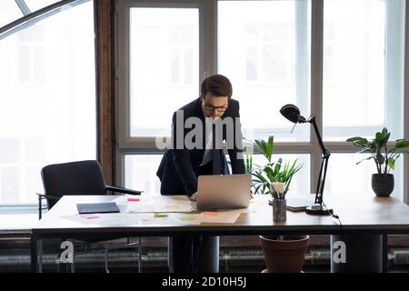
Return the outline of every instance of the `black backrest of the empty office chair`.
[[[106,195],[101,166],[95,160],[45,166],[41,170],[45,195]],[[48,199],[48,208],[56,201]]]

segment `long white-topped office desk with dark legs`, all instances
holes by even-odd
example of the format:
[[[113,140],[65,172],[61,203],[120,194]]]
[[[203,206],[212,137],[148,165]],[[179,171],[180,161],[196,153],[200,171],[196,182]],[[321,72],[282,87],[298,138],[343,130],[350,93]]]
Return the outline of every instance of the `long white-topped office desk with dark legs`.
[[[77,203],[109,202],[117,196],[64,196],[32,229],[31,267],[38,270],[38,246],[44,238],[107,236],[177,236],[195,233],[211,236],[258,236],[258,235],[388,235],[409,234],[409,206],[392,197],[360,197],[354,204],[345,196],[326,198],[327,204],[334,208],[334,214],[342,221],[331,216],[310,216],[304,212],[287,211],[285,222],[274,222],[272,208],[267,200],[270,196],[254,196],[251,207],[256,211],[242,213],[234,224],[206,223],[200,226],[186,226],[177,223],[169,225],[141,225],[140,214],[135,223],[104,226],[85,225],[62,216],[77,214]],[[387,236],[384,236],[387,237]],[[384,243],[387,243],[384,240]],[[386,245],[387,246],[387,245]],[[41,250],[40,250],[41,251]],[[41,253],[41,252],[40,252]],[[387,255],[384,252],[384,256]]]

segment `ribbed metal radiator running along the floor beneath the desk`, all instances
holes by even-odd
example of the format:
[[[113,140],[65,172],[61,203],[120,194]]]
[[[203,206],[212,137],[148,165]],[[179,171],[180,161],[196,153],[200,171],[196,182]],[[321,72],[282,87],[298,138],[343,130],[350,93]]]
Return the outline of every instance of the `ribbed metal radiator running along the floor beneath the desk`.
[[[144,247],[142,255],[142,266],[145,272],[167,271],[167,248]],[[329,248],[307,249],[304,265],[307,267],[329,266]],[[137,249],[119,249],[109,251],[109,269],[119,272],[137,272]],[[391,249],[389,257],[390,264],[394,266],[409,266],[409,249]],[[59,253],[45,254],[43,256],[44,272],[64,271],[65,264],[59,263]],[[63,269],[62,269],[63,266]],[[261,247],[221,247],[220,249],[220,271],[253,272],[264,268],[264,253]],[[30,256],[25,251],[4,251],[0,254],[0,272],[28,272],[30,270]],[[94,252],[75,255],[75,270],[77,272],[104,272],[105,253]]]

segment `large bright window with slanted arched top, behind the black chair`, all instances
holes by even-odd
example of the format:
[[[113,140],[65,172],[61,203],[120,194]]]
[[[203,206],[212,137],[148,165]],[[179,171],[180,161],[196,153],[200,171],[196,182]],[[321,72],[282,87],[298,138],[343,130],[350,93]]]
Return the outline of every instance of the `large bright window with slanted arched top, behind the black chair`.
[[[96,157],[93,2],[1,39],[0,64],[0,204],[36,203],[43,166]]]

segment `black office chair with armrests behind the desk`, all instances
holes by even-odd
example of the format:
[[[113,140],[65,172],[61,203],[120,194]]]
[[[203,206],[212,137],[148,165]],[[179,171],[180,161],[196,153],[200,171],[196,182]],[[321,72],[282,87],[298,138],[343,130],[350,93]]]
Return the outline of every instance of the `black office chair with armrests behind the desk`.
[[[109,193],[115,192],[129,195],[141,194],[140,191],[125,189],[122,187],[106,186],[101,166],[95,160],[45,166],[41,170],[41,176],[43,178],[45,194],[37,194],[39,219],[42,217],[43,209],[51,209],[55,206],[55,203],[65,195],[108,195]],[[44,199],[47,202],[46,207],[43,207]],[[117,238],[120,237],[105,237],[104,240]],[[95,239],[85,239],[85,241],[95,242]],[[140,237],[138,238],[138,245],[138,270],[140,272],[142,263],[142,245]],[[107,241],[105,241],[105,271],[109,272],[107,246]]]

